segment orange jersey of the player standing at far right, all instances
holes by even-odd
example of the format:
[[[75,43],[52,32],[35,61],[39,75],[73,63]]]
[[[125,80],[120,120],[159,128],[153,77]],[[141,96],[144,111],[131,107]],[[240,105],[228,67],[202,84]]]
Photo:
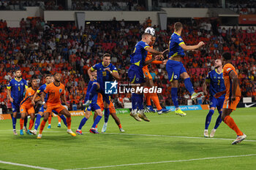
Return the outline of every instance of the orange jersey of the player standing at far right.
[[[225,87],[226,87],[225,98],[230,98],[232,96],[233,84],[232,84],[232,80],[230,80],[230,76],[229,76],[231,71],[235,72],[236,76],[238,76],[235,67],[231,63],[225,64],[225,66],[223,67],[223,78],[224,78]],[[239,85],[236,88],[236,96],[241,97],[241,89],[240,89]]]

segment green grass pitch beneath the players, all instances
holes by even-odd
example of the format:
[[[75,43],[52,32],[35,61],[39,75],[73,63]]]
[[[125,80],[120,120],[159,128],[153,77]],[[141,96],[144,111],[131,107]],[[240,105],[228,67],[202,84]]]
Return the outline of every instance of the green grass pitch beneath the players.
[[[57,128],[57,118],[53,117],[52,128],[45,125],[42,139],[36,136],[14,136],[10,129],[11,120],[0,120],[0,161],[23,163],[52,169],[79,169],[95,166],[116,166],[130,163],[151,163],[179,161],[196,158],[215,158],[230,155],[256,154],[256,107],[237,109],[231,116],[247,135],[249,141],[232,145],[236,134],[225,123],[219,125],[214,139],[203,138],[207,110],[187,111],[186,117],[170,112],[166,115],[148,113],[151,122],[137,122],[129,115],[118,115],[126,131],[121,134],[110,117],[107,133],[72,137],[67,128]],[[209,126],[214,127],[218,113],[215,112]],[[72,131],[78,128],[82,117],[72,117]],[[104,118],[99,123],[101,131]],[[92,117],[83,127],[88,132]],[[19,128],[19,120],[17,121]],[[125,135],[148,134],[156,136]],[[162,135],[162,136],[159,136]],[[175,137],[176,136],[176,137]],[[183,138],[194,136],[200,138]],[[230,140],[229,140],[230,139]],[[108,167],[103,169],[255,169],[256,155],[238,158],[217,158],[209,160],[140,164],[133,166]],[[0,169],[29,169],[0,163]]]

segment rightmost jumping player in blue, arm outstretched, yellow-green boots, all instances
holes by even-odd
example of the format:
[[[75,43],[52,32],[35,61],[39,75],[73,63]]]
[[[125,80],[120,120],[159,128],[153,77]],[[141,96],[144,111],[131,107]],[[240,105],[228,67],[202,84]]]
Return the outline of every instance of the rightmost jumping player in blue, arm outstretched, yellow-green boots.
[[[176,107],[176,115],[185,116],[187,115],[178,107],[178,80],[181,77],[184,80],[185,87],[189,90],[192,95],[191,99],[194,100],[203,95],[203,93],[195,93],[192,82],[190,81],[189,74],[187,74],[186,69],[181,63],[181,58],[184,57],[184,50],[195,50],[202,47],[204,42],[199,42],[198,45],[185,45],[181,38],[181,32],[183,26],[181,23],[174,24],[174,33],[170,36],[169,42],[169,60],[166,63],[166,71],[168,74],[168,79],[172,85],[171,96],[173,100],[173,105]]]

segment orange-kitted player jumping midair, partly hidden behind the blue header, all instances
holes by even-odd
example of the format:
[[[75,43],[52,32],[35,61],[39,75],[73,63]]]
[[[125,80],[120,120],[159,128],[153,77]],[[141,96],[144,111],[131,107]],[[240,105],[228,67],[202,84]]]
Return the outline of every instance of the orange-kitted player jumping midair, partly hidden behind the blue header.
[[[149,44],[149,47],[153,48],[154,42],[156,42],[156,36],[152,35],[152,42]],[[147,56],[146,56],[146,61],[149,61],[152,59],[152,54],[150,52],[148,52]],[[166,64],[167,60],[165,61],[152,61],[151,63],[156,63],[156,64]],[[153,82],[153,78],[150,74],[150,72],[148,71],[148,65],[143,66],[143,73],[144,73],[144,77],[146,79],[146,88],[151,88],[154,86],[154,82]],[[151,99],[154,101],[154,104],[157,107],[157,112],[159,115],[161,115],[162,113],[167,113],[169,112],[168,109],[163,109],[159,103],[159,98],[157,96],[157,93],[144,93],[144,96],[146,98],[146,103],[147,103],[147,107],[151,112],[154,112],[153,107],[151,106]]]

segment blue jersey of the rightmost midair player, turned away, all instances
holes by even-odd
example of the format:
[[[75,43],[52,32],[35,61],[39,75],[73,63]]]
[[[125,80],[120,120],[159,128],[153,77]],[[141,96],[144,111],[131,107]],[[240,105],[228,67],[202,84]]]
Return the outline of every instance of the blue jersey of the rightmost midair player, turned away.
[[[184,44],[181,35],[174,32],[172,36],[170,36],[168,58],[176,55],[181,55],[181,57],[184,57],[185,54],[183,48],[180,46],[181,44]]]

